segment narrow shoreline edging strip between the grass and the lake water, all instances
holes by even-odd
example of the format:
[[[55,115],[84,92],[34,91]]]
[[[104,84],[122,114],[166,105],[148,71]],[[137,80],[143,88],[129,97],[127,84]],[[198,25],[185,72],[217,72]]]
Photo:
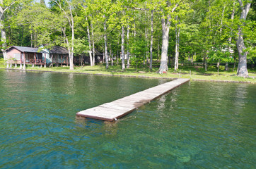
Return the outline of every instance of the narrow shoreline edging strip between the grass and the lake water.
[[[28,72],[48,72],[48,73],[73,73],[73,74],[83,74],[83,75],[103,75],[103,76],[115,76],[115,77],[136,77],[136,78],[147,78],[147,79],[170,79],[175,80],[180,77],[153,77],[146,75],[116,75],[116,74],[104,74],[104,73],[79,73],[79,72],[69,72],[69,71],[52,71],[52,70],[32,70],[32,69],[14,69],[14,68],[0,68],[1,70],[18,70],[18,71],[28,71]],[[184,77],[181,77],[184,78]],[[248,83],[248,84],[256,84],[256,82],[248,82],[248,81],[235,81],[235,80],[203,80],[203,79],[193,79],[192,81],[201,81],[201,82],[233,82],[233,83]]]

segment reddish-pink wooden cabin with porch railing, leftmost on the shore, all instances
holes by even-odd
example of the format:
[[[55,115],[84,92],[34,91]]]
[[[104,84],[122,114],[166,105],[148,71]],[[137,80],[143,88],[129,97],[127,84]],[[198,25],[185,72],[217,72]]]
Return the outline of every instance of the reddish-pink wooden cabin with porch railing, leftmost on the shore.
[[[4,50],[6,52],[7,63],[45,65],[45,51],[38,48],[11,46]]]

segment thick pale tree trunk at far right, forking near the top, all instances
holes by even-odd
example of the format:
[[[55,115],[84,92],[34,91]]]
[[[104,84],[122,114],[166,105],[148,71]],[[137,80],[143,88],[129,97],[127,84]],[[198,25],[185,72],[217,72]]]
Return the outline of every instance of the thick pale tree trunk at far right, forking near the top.
[[[238,0],[241,8],[241,15],[240,20],[246,20],[246,16],[248,15],[250,4],[247,3],[243,6],[242,0]],[[238,25],[238,38],[236,39],[236,47],[238,49],[238,73],[237,75],[240,77],[248,77],[248,70],[247,70],[247,54],[248,52],[245,51],[245,43],[243,42],[243,32],[241,25]]]

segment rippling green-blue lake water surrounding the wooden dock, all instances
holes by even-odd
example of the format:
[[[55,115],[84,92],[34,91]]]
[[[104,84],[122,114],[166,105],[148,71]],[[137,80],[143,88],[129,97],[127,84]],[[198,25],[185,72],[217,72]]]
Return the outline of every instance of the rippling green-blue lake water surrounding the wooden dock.
[[[255,84],[192,81],[117,123],[76,119],[164,82],[0,70],[0,168],[255,168]]]

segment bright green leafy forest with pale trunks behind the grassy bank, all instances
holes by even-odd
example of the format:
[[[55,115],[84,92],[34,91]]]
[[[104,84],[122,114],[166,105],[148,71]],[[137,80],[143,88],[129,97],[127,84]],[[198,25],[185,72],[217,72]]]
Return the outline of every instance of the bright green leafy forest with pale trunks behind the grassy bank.
[[[248,0],[1,0],[1,51],[9,46],[48,47],[88,55],[95,50],[106,68],[159,61],[158,73],[179,63],[237,66],[248,77],[256,61],[256,2]],[[120,60],[120,61],[119,61]]]

